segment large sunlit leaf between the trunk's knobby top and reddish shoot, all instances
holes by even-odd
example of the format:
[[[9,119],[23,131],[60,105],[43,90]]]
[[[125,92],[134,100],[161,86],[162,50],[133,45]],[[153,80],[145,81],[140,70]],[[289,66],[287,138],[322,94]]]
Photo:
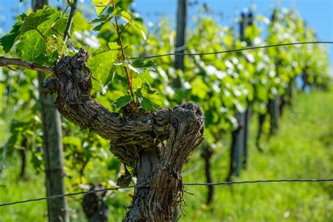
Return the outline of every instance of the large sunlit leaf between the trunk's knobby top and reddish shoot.
[[[101,86],[105,87],[112,81],[116,70],[111,64],[115,60],[117,51],[103,51],[89,57],[88,66],[92,77],[99,83],[93,82],[93,89],[100,90]]]

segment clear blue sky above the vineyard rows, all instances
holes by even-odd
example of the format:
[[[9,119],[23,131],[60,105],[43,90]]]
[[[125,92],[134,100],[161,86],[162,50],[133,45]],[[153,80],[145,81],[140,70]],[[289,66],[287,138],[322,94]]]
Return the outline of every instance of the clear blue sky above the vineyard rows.
[[[91,0],[79,0],[90,4]],[[223,25],[233,25],[233,18],[239,15],[243,8],[256,6],[255,13],[270,17],[274,6],[296,7],[308,26],[316,30],[320,41],[333,41],[333,0],[189,0],[197,1],[196,6],[190,6],[189,17],[197,14],[198,8],[206,3],[214,12],[216,20]],[[133,8],[140,13],[146,22],[156,23],[160,15],[169,18],[170,24],[176,21],[176,0],[134,0]],[[51,0],[53,6],[61,6],[62,0]],[[20,4],[19,0],[0,0],[0,27],[9,32],[13,25],[13,15],[26,11],[30,1]],[[333,46],[329,46],[329,58],[333,66]]]

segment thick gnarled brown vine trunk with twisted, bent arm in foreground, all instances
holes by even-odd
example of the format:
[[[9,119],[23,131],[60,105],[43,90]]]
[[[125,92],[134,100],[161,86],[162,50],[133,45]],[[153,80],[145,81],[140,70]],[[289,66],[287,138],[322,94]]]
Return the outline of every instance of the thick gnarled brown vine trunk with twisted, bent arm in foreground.
[[[55,65],[55,77],[44,84],[57,94],[55,105],[63,117],[110,140],[110,150],[133,166],[138,178],[124,221],[171,221],[181,200],[181,169],[204,138],[200,105],[186,103],[152,112],[110,112],[90,98],[88,53],[80,49]]]

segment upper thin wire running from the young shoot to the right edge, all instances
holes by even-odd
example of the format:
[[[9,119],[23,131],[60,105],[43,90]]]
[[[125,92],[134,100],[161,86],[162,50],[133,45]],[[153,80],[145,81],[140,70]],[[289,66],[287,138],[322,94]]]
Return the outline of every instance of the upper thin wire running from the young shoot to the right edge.
[[[214,55],[214,54],[221,54],[221,53],[234,53],[234,52],[238,52],[238,51],[245,51],[245,50],[251,50],[251,49],[258,49],[258,48],[271,48],[271,47],[278,47],[278,46],[292,46],[292,45],[302,45],[302,44],[333,44],[333,41],[303,41],[303,42],[268,45],[268,46],[254,46],[254,47],[249,47],[249,48],[238,48],[238,49],[232,49],[232,50],[227,50],[227,51],[218,51],[218,52],[210,52],[210,53],[166,53],[166,54],[162,54],[162,55],[132,57],[129,59],[136,60],[136,59],[142,59],[142,58],[159,58],[159,57],[170,56],[170,55]]]

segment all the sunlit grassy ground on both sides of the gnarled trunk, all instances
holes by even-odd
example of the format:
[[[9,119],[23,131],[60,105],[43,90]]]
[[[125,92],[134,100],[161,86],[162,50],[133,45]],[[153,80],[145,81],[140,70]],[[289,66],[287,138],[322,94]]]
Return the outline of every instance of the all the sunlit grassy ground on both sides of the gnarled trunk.
[[[256,130],[253,119],[252,132]],[[263,141],[265,151],[250,141],[249,166],[237,180],[333,177],[333,93],[313,92],[296,97],[280,122],[278,135]],[[228,139],[216,150],[214,181],[228,174]],[[42,197],[44,175],[29,169],[29,180],[18,181],[18,161],[10,159],[0,184],[0,203]],[[97,166],[96,166],[97,167]],[[184,181],[204,182],[203,160],[195,152],[184,169]],[[333,183],[264,183],[215,187],[214,202],[204,204],[207,188],[188,186],[186,216],[181,221],[333,221]],[[120,195],[118,195],[120,194]],[[71,221],[83,221],[80,204],[70,198]],[[110,221],[121,221],[122,206],[129,204],[126,192],[107,200]],[[0,207],[0,221],[46,221],[46,202]]]

